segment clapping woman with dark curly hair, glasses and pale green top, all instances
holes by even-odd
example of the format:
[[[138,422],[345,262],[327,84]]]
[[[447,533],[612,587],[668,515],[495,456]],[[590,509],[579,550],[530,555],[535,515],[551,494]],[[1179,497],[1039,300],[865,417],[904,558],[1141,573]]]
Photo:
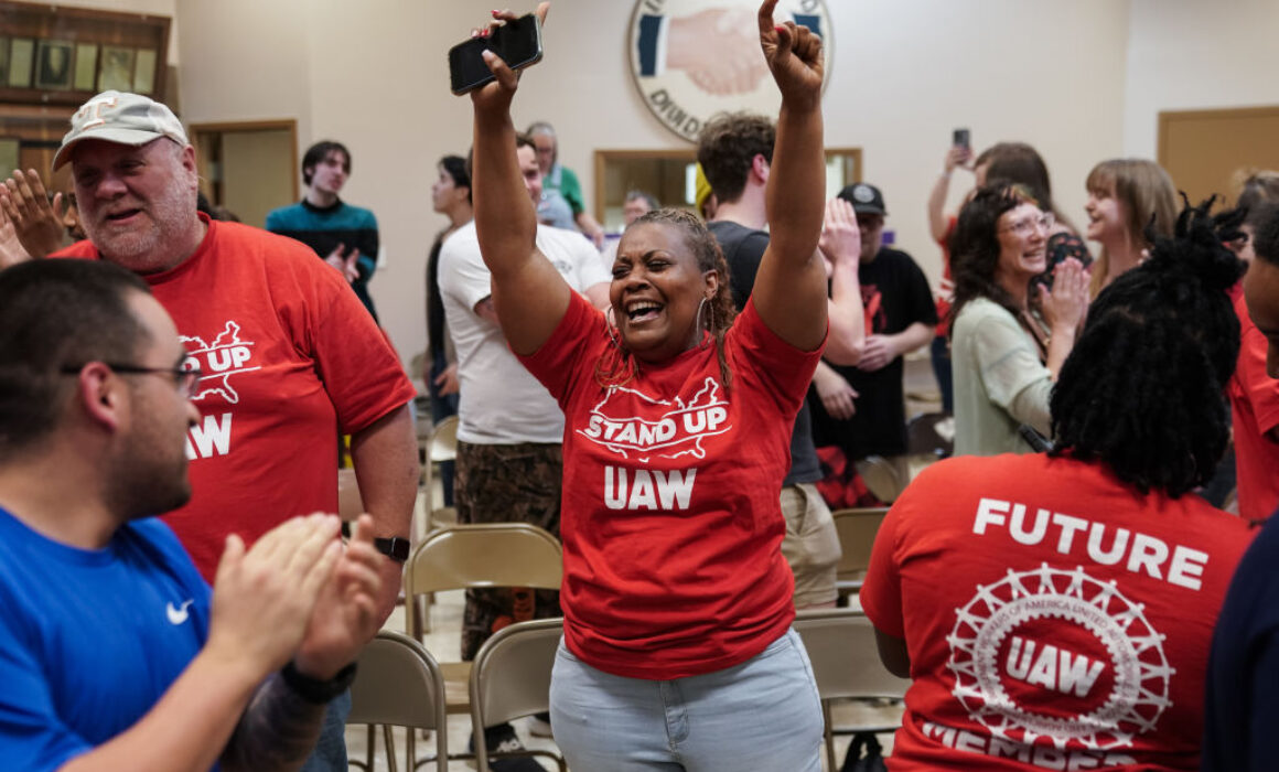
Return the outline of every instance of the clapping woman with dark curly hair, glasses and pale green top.
[[[955,454],[1024,453],[1022,424],[1049,433],[1049,393],[1087,309],[1087,274],[1067,259],[1053,289],[1044,273],[1050,215],[1018,186],[980,188],[959,211],[952,241],[955,300]]]

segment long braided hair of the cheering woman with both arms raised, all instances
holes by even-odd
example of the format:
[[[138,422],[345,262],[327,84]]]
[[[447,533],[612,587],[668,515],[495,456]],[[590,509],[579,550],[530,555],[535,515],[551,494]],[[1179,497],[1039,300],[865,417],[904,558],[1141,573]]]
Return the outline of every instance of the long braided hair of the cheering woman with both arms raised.
[[[683,209],[654,209],[636,219],[629,228],[641,223],[657,223],[678,228],[684,236],[684,245],[697,260],[697,269],[702,273],[714,270],[719,275],[719,288],[715,297],[707,302],[709,320],[707,329],[715,339],[715,355],[719,360],[720,379],[724,389],[732,388],[733,373],[724,358],[724,335],[733,326],[737,318],[737,306],[733,305],[733,292],[728,278],[728,261],[724,260],[724,251],[706,224],[689,211]],[[602,387],[622,385],[636,376],[638,364],[634,355],[627,350],[622,337],[615,330],[609,330],[616,346],[600,357],[595,364],[595,379]]]

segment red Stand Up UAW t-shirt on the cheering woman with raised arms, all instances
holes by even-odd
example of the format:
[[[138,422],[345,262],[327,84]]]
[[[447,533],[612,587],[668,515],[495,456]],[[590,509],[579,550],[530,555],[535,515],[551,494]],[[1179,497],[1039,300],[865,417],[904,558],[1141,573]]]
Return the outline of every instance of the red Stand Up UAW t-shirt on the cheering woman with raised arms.
[[[725,338],[604,388],[618,361],[604,315],[573,294],[522,357],[564,408],[564,640],[619,676],[668,680],[739,664],[794,617],[778,492],[821,350],[773,334],[755,303]]]

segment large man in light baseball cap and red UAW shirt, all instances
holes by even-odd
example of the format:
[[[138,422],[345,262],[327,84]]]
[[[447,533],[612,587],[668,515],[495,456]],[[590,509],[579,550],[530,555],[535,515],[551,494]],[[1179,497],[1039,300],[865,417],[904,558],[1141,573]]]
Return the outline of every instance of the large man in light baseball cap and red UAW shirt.
[[[72,118],[54,157],[70,164],[88,241],[54,256],[139,274],[173,316],[201,419],[187,437],[191,503],[165,521],[206,580],[229,534],[252,544],[293,515],[336,512],[339,425],[394,608],[417,495],[416,390],[338,271],[301,242],[196,210],[196,151],[169,108],[102,92]],[[349,696],[331,703],[304,769],[345,771]]]

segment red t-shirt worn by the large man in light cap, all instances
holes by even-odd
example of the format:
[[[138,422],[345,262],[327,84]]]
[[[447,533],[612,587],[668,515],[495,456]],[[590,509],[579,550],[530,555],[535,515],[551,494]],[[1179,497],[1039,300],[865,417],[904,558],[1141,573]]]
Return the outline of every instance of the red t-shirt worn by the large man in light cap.
[[[98,253],[83,241],[59,256]],[[292,238],[210,221],[182,265],[142,278],[205,374],[193,494],[164,520],[212,581],[228,534],[252,544],[294,515],[336,512],[338,426],[359,431],[416,390],[341,275]]]

